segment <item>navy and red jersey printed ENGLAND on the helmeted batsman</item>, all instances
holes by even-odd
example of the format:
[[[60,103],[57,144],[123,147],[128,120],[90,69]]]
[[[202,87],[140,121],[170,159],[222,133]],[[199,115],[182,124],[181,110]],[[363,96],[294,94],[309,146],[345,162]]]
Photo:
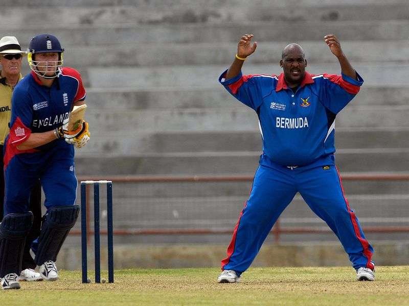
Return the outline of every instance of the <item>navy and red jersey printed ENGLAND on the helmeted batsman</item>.
[[[52,131],[68,118],[75,101],[85,99],[85,89],[79,72],[63,67],[51,87],[41,85],[37,75],[31,72],[14,88],[12,96],[12,115],[10,134],[6,140],[5,167],[17,154],[21,159],[41,158],[41,152],[47,152],[56,146],[73,150],[64,139],[29,150],[19,150],[17,146],[27,140],[31,133]]]

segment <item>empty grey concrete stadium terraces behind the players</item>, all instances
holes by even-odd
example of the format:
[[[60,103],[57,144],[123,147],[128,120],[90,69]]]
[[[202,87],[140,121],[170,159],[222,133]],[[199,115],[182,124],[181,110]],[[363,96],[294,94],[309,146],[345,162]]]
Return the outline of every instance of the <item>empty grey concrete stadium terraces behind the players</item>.
[[[289,42],[304,47],[308,71],[339,73],[323,41],[336,34],[365,79],[336,119],[340,171],[409,168],[405,0],[15,0],[2,8],[4,34],[22,46],[37,33],[55,34],[66,50],[64,64],[82,74],[92,137],[77,151],[79,175],[254,173],[261,150],[257,116],[217,82],[244,33],[254,33],[259,45],[243,71],[269,74],[281,72],[281,49]],[[250,183],[195,184],[117,184],[117,226],[233,228]],[[402,225],[409,220],[408,185],[345,182],[345,189],[364,226]],[[300,198],[282,222],[325,226]],[[229,236],[134,239],[224,243]],[[305,237],[283,239],[322,239]]]

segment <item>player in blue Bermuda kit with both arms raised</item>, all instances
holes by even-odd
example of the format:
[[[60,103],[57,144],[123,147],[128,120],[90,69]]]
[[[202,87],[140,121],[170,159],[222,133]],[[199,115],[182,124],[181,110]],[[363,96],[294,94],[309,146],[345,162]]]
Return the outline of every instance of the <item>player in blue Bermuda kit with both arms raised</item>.
[[[284,47],[280,75],[243,75],[241,67],[257,47],[252,39],[253,34],[240,38],[235,60],[219,82],[257,113],[263,154],[217,282],[240,282],[297,192],[342,243],[357,280],[373,281],[374,250],[344,194],[334,158],[335,117],[359,92],[363,80],[332,34],[324,41],[339,62],[340,75],[305,71],[307,60],[296,43]]]

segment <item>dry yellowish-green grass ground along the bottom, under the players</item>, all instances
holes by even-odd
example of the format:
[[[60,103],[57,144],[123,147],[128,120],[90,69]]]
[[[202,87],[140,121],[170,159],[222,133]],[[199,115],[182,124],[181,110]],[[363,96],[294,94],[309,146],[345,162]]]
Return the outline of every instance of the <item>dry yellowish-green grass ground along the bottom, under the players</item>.
[[[22,282],[3,305],[409,305],[409,266],[376,267],[375,282],[350,267],[251,268],[240,284],[217,284],[217,268],[116,271],[115,284],[81,284],[79,271],[57,282]],[[91,275],[91,274],[90,274]]]

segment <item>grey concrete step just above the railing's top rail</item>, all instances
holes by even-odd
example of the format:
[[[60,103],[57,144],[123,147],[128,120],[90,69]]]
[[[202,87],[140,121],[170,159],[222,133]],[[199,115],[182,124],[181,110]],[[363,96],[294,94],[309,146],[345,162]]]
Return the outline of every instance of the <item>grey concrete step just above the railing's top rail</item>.
[[[336,154],[340,171],[402,171],[409,168],[407,149],[352,150]],[[260,152],[214,152],[153,156],[77,156],[78,174],[248,174],[258,166]]]

